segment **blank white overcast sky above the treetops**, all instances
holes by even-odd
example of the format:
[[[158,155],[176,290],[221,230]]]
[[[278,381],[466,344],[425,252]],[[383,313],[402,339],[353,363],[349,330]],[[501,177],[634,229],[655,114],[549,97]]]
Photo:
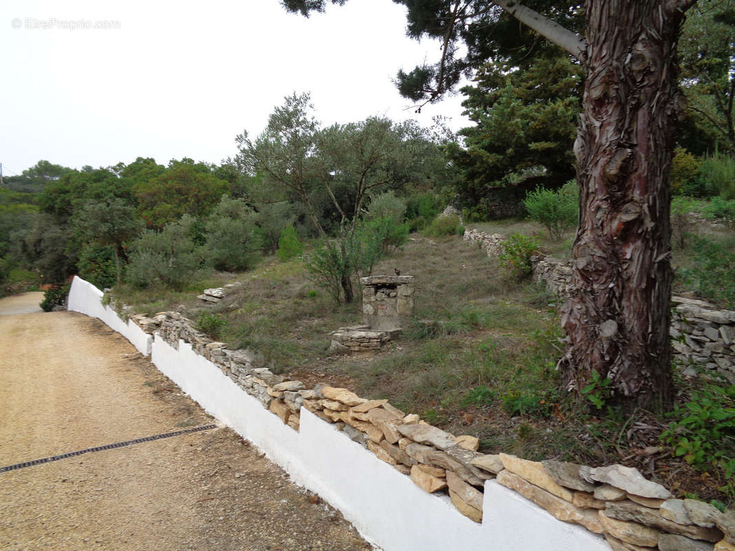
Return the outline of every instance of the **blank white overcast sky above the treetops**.
[[[61,28],[78,20],[120,28]],[[28,28],[43,24],[52,28]],[[437,60],[440,45],[405,29],[391,0],[350,0],[309,19],[279,0],[4,0],[0,162],[6,175],[39,159],[73,168],[137,156],[220,162],[293,91],[311,92],[326,124],[386,115],[429,126],[445,115],[454,129],[467,126],[461,96],[420,115],[406,109],[395,73]]]

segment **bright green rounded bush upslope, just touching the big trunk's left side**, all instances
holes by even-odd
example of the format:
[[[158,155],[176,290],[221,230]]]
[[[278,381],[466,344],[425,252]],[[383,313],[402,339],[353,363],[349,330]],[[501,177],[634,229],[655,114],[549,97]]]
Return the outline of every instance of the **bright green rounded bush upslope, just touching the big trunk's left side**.
[[[528,217],[548,229],[554,240],[561,240],[562,234],[575,228],[578,220],[579,189],[576,181],[570,180],[560,190],[546,190],[537,187],[526,193],[523,206]]]

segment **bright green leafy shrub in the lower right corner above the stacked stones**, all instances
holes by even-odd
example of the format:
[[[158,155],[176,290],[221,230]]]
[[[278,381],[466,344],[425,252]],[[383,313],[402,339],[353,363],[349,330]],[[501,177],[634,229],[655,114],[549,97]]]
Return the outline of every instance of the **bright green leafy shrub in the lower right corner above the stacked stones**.
[[[692,393],[692,400],[675,406],[675,420],[661,433],[661,441],[673,448],[677,457],[706,470],[723,472],[727,484],[720,488],[734,495],[735,475],[735,386],[709,385]]]

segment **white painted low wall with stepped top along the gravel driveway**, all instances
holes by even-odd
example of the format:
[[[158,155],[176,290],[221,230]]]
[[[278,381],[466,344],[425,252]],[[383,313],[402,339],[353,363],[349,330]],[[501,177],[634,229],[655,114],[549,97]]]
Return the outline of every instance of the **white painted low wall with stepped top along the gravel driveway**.
[[[107,323],[106,311],[104,317],[89,313],[97,311],[98,289],[75,278],[72,290],[69,309]],[[127,327],[119,319],[110,322],[115,331]],[[209,414],[342,511],[365,539],[384,550],[610,551],[600,536],[556,520],[495,480],[485,483],[482,524],[473,522],[448,497],[419,489],[306,408],[301,409],[300,432],[293,431],[186,342],[176,350],[156,336],[151,354],[159,370]]]

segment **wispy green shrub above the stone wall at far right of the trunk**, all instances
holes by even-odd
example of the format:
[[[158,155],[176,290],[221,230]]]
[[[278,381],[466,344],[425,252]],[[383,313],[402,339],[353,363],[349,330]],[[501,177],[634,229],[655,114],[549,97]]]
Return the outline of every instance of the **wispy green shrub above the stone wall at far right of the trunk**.
[[[735,306],[735,252],[720,243],[695,237],[693,267],[683,268],[681,278],[698,295],[714,303]]]

